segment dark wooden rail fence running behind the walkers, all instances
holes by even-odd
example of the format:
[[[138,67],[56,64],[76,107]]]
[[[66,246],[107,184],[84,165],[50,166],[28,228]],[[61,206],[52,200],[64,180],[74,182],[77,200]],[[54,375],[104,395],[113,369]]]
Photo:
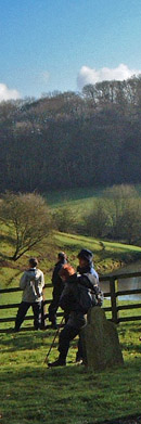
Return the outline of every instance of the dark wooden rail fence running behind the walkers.
[[[125,273],[125,274],[117,274],[117,275],[106,275],[106,277],[101,277],[100,278],[100,282],[108,282],[110,284],[110,292],[106,292],[104,293],[104,297],[108,297],[111,299],[111,306],[110,307],[103,307],[103,309],[105,310],[105,312],[111,312],[111,320],[113,322],[115,322],[116,324],[118,324],[119,322],[125,322],[125,321],[137,321],[137,320],[141,320],[141,300],[139,303],[134,303],[133,304],[129,304],[128,301],[128,305],[126,305],[124,303],[124,305],[118,305],[118,299],[120,296],[127,296],[127,295],[133,295],[133,294],[141,294],[141,288],[139,290],[126,290],[126,291],[118,291],[118,282],[119,280],[121,279],[129,279],[129,278],[136,278],[136,277],[141,277],[141,272],[132,272],[132,273]],[[46,287],[52,287],[51,284],[46,284]],[[12,287],[12,288],[3,288],[3,290],[0,290],[0,295],[1,294],[7,294],[7,293],[13,293],[13,292],[21,292],[21,288],[20,287]],[[43,300],[42,303],[42,327],[44,329],[49,329],[50,327],[50,324],[48,323],[47,324],[47,320],[49,318],[49,314],[47,312],[47,305],[49,305],[51,301],[51,299],[49,300]],[[20,304],[4,304],[4,305],[0,305],[0,309],[17,309],[18,308],[18,305]],[[139,314],[137,316],[126,316],[126,317],[120,317],[119,312],[121,310],[131,310],[131,309],[140,309],[139,310]],[[62,317],[63,316],[63,312],[57,312],[57,317]],[[25,317],[25,321],[27,320],[31,320],[33,319],[33,316],[27,316]],[[0,324],[1,323],[9,323],[9,322],[14,322],[15,321],[15,317],[5,317],[5,318],[0,318]],[[13,325],[14,326],[14,325]],[[22,326],[22,330],[31,330],[33,327],[30,326]],[[8,332],[10,331],[11,329],[0,329],[0,333],[1,332]]]

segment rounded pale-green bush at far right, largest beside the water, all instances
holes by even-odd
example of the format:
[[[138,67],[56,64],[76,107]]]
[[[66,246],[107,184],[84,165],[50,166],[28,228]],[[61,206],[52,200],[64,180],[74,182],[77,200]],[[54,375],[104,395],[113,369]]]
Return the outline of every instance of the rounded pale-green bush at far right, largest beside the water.
[[[85,222],[89,235],[139,243],[141,198],[133,187],[114,185],[103,192],[103,198],[94,201]]]

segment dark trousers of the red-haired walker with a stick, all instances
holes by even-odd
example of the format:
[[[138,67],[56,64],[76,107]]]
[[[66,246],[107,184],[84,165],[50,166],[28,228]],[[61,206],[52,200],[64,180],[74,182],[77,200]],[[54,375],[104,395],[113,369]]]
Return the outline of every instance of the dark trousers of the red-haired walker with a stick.
[[[66,359],[70,341],[73,341],[78,334],[79,334],[78,351],[79,351],[79,357],[82,358],[82,343],[80,337],[80,329],[65,324],[59,337],[59,351],[60,351],[61,359],[63,360]]]

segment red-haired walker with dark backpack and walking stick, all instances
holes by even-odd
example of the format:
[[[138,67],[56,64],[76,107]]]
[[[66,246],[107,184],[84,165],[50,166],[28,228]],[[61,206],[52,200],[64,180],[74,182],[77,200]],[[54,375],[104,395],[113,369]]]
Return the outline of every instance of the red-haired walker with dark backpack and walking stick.
[[[98,305],[98,284],[94,275],[91,274],[91,279],[82,278],[81,275],[77,275],[70,265],[64,265],[60,270],[60,277],[65,284],[60,297],[60,306],[67,314],[67,321],[59,335],[59,358],[56,361],[48,363],[50,368],[66,364],[70,341],[77,335],[80,336],[80,331],[87,323],[89,308]],[[78,349],[80,349],[84,360],[85,356],[82,355],[80,338]]]

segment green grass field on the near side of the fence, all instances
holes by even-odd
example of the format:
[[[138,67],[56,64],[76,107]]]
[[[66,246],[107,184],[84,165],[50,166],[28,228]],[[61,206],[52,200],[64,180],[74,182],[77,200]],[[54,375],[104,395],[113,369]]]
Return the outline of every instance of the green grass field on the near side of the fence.
[[[94,424],[140,415],[140,323],[120,324],[125,364],[94,373],[75,364],[77,339],[65,368],[43,363],[53,331],[0,335],[0,422],[2,424]],[[50,360],[57,357],[56,344]]]

